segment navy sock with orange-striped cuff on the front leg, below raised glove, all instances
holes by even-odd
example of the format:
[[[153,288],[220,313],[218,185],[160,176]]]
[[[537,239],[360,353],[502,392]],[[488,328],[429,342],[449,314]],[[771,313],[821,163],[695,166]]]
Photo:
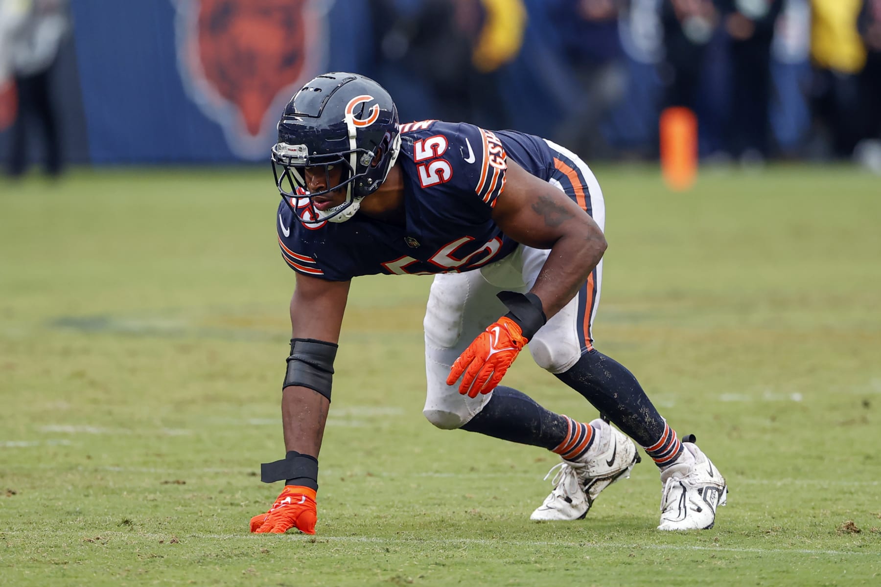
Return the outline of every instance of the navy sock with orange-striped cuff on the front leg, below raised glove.
[[[577,459],[593,443],[594,429],[539,406],[525,393],[499,385],[482,410],[463,427],[514,443],[542,446],[564,459]]]

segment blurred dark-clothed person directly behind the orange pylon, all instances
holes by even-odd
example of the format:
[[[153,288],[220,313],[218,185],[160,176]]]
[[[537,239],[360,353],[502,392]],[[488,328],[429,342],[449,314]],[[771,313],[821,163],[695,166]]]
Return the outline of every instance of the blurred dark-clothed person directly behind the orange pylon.
[[[661,21],[667,51],[663,107],[697,110],[704,58],[719,25],[719,11],[712,0],[663,0]]]

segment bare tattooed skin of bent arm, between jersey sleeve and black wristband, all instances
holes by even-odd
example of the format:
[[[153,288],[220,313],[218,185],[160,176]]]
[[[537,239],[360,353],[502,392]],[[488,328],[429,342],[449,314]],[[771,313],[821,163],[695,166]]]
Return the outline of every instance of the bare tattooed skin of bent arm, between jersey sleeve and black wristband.
[[[492,219],[518,243],[551,249],[530,290],[551,318],[563,309],[603,258],[603,231],[562,190],[539,180],[510,158],[507,183]]]

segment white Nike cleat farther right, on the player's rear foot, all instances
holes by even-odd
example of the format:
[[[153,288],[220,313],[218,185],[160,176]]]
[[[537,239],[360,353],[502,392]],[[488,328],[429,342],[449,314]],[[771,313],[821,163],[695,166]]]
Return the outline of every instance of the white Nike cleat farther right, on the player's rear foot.
[[[719,469],[694,444],[692,435],[682,439],[682,446],[693,460],[680,458],[685,462],[661,472],[658,530],[708,530],[715,524],[716,508],[728,502],[728,486]]]

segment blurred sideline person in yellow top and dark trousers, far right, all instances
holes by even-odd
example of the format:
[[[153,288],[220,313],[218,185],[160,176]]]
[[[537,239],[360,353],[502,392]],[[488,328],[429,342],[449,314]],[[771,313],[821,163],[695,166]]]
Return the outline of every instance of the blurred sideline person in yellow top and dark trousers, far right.
[[[866,63],[866,49],[856,27],[862,0],[812,0],[811,6],[815,118],[820,131],[831,138],[833,155],[849,157],[865,125],[858,75]]]

